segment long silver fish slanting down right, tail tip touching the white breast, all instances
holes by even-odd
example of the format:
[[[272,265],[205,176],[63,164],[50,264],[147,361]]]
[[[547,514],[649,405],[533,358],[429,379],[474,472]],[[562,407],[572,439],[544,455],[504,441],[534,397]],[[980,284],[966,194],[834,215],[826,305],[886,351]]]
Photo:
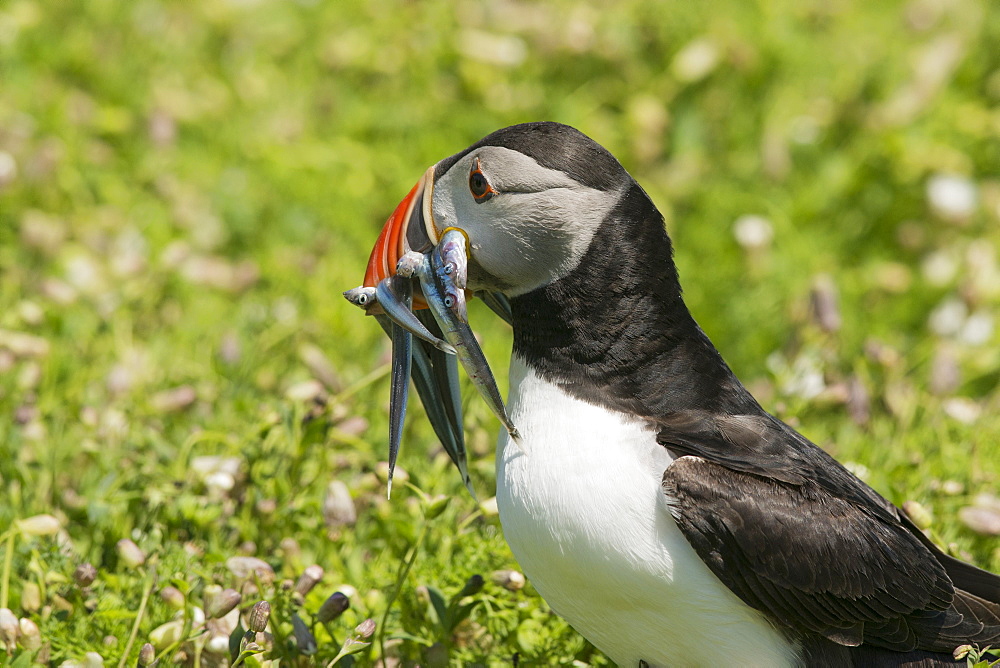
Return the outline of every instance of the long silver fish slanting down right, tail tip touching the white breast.
[[[449,274],[443,269],[440,254],[432,252],[430,255],[423,255],[411,251],[400,259],[397,271],[400,274],[412,271],[412,275],[420,280],[424,300],[430,307],[434,319],[441,326],[444,338],[455,347],[458,361],[472,379],[472,384],[486,400],[486,405],[499,418],[514,442],[520,443],[521,434],[507,416],[496,379],[490,371],[490,365],[479,347],[479,342],[476,341],[468,323],[463,322],[452,308],[446,305],[446,295],[453,294],[457,288],[451,285],[450,280],[442,280],[442,276],[447,279]],[[452,306],[454,307],[454,303]]]

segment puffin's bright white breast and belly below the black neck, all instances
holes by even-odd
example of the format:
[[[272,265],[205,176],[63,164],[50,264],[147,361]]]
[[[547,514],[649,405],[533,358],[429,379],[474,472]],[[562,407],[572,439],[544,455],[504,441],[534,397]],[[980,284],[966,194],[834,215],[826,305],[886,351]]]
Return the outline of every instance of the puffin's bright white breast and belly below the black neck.
[[[511,360],[497,504],[549,605],[622,666],[794,665],[796,648],[716,578],[660,489],[672,461],[642,422],[575,399]]]

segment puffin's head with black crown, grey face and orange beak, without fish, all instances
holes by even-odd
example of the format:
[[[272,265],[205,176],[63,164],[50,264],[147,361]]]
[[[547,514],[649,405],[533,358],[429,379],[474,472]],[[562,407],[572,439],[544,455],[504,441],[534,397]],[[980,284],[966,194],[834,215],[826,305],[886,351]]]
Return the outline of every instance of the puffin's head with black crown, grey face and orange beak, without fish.
[[[531,292],[580,263],[633,184],[614,156],[567,125],[497,130],[424,173],[386,222],[364,284],[457,228],[469,242],[469,289]]]

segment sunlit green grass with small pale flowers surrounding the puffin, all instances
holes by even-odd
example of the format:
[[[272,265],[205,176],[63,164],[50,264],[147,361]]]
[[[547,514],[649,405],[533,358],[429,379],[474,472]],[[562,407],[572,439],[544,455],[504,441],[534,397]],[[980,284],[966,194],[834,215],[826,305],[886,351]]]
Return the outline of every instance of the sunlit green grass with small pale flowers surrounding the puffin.
[[[0,658],[131,665],[153,637],[219,665],[231,635],[267,650],[247,662],[325,666],[354,637],[362,665],[608,664],[530,581],[494,582],[517,569],[499,522],[416,404],[413,488],[385,499],[387,341],[340,297],[428,164],[525,120],[643,184],[767,408],[1000,570],[961,519],[1000,486],[1000,11],[709,7],[0,3],[0,608],[29,620]],[[941,175],[971,207],[935,204]],[[737,242],[748,214],[769,243]],[[810,309],[823,280],[839,328]],[[472,317],[503,381],[509,331]],[[466,390],[488,499],[497,425]],[[188,641],[219,587],[267,599],[270,635],[231,613]]]

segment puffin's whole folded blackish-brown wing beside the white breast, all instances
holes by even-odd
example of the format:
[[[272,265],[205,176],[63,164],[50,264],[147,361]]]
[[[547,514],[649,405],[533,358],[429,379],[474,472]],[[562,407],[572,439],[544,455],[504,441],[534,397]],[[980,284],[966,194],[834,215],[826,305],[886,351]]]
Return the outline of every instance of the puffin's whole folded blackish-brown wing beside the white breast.
[[[956,592],[940,552],[892,504],[783,423],[689,414],[661,426],[680,457],[663,475],[671,512],[751,607],[847,646],[950,652],[1000,640],[1000,607]]]

